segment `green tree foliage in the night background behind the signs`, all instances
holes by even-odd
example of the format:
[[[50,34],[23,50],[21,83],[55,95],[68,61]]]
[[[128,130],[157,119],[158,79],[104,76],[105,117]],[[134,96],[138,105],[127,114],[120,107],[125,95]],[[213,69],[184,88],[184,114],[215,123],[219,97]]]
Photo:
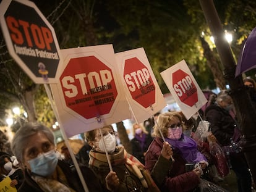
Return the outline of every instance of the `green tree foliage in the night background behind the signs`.
[[[233,31],[231,47],[238,58],[242,42],[255,27],[256,2],[214,2],[223,28]],[[115,52],[120,52],[143,47],[163,93],[169,90],[160,72],[182,59],[186,60],[200,88],[216,86],[200,43],[203,31],[210,44],[210,31],[198,0],[46,0],[35,3],[53,25],[61,49],[113,44]],[[1,43],[1,61],[11,59],[9,54],[3,54],[6,50]],[[214,46],[211,50],[215,54]],[[3,118],[4,109],[14,104],[25,105],[22,95],[24,91],[33,90],[35,84],[12,59],[0,65],[0,115]],[[49,126],[54,123],[51,104],[42,85],[35,91],[35,109],[38,121]]]

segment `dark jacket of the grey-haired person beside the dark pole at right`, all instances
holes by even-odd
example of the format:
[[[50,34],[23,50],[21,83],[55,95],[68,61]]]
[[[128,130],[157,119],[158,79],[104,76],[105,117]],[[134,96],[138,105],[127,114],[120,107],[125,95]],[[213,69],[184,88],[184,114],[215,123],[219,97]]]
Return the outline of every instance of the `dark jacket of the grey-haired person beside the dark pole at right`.
[[[222,146],[230,144],[237,126],[228,111],[216,104],[211,104],[205,109],[205,119],[210,122],[210,130]]]

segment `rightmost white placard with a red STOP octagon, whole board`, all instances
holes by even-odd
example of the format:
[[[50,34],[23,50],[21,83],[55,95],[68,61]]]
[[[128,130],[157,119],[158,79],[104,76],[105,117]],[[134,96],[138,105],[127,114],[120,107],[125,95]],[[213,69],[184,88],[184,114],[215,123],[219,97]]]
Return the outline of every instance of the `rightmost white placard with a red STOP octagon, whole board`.
[[[187,119],[207,102],[184,60],[160,74]]]

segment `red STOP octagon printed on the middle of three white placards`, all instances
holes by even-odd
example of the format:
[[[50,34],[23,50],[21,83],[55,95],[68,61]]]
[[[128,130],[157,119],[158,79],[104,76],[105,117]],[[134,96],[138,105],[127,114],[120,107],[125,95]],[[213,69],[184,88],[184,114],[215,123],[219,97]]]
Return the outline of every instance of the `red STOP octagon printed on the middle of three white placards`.
[[[137,57],[124,64],[124,80],[132,98],[147,108],[155,103],[155,84],[148,68]]]

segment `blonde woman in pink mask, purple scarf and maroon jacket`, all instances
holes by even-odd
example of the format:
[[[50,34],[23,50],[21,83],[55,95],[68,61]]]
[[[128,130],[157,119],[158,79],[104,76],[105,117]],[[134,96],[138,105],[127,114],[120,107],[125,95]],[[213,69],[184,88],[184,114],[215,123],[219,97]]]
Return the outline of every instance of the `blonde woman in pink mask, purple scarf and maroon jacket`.
[[[179,112],[166,112],[160,114],[154,127],[154,140],[150,144],[145,156],[145,167],[153,170],[155,163],[158,161],[164,139],[173,148],[173,167],[165,165],[163,170],[168,170],[165,180],[161,183],[161,191],[193,191],[200,183],[200,169],[192,169],[186,172],[186,164],[199,163],[202,169],[208,165],[207,159],[198,152],[197,144],[192,138],[182,134],[182,117]],[[164,165],[163,165],[164,166]]]

